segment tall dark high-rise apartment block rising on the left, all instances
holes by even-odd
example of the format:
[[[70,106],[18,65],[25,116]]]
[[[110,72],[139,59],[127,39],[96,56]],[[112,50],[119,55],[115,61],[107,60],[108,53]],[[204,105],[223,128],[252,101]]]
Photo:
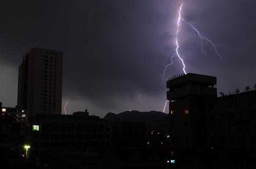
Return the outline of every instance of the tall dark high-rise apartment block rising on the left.
[[[17,107],[27,114],[61,114],[63,54],[31,48],[18,70]]]

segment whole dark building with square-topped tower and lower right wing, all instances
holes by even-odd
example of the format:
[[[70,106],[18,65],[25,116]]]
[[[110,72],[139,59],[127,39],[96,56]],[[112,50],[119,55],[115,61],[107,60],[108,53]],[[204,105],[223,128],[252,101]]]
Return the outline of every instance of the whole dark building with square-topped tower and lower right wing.
[[[254,168],[256,90],[217,97],[216,84],[216,77],[193,73],[167,81],[170,160],[194,168]]]

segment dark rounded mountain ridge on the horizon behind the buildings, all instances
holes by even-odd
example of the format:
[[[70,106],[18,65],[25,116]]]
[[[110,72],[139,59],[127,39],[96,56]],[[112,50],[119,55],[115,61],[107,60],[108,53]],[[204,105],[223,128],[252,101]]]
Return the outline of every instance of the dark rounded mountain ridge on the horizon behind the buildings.
[[[144,122],[147,130],[168,130],[168,115],[161,111],[140,112],[136,110],[123,111],[120,114],[109,112],[104,119],[109,122]]]

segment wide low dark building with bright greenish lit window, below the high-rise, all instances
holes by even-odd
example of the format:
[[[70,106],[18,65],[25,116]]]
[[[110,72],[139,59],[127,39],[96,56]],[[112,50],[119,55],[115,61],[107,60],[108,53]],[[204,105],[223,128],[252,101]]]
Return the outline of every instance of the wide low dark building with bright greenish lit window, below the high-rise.
[[[109,123],[88,111],[73,115],[30,115],[27,118],[26,144],[32,152],[102,150],[110,147]]]

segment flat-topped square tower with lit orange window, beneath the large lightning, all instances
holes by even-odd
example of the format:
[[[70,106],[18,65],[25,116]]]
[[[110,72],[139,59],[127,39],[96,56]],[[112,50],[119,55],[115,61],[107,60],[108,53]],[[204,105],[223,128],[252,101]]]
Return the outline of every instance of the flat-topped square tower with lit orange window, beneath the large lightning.
[[[214,110],[216,77],[188,73],[167,81],[173,149],[197,149],[207,138],[205,107]],[[210,110],[211,111],[211,110]]]

